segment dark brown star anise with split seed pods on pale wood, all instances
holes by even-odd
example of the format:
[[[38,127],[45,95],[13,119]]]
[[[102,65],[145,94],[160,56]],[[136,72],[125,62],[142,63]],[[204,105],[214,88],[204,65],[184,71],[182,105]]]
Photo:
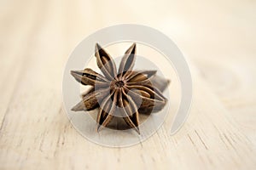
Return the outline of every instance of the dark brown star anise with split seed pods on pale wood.
[[[83,85],[90,85],[88,92],[72,111],[92,111],[99,108],[97,130],[108,126],[114,116],[122,117],[127,125],[139,131],[139,113],[160,111],[167,99],[161,94],[169,81],[155,75],[156,71],[132,71],[136,59],[133,43],[121,59],[117,71],[113,58],[96,43],[96,63],[104,76],[90,68],[71,71]]]

